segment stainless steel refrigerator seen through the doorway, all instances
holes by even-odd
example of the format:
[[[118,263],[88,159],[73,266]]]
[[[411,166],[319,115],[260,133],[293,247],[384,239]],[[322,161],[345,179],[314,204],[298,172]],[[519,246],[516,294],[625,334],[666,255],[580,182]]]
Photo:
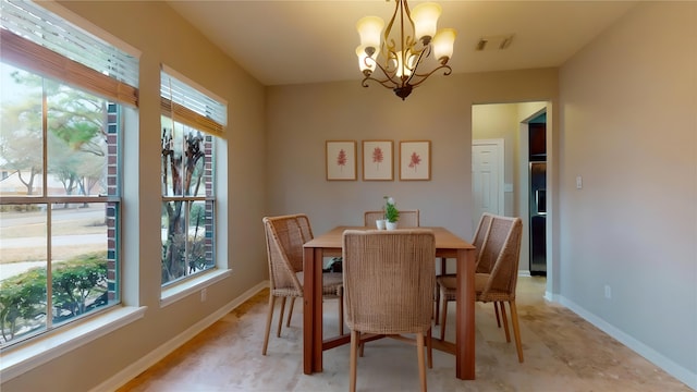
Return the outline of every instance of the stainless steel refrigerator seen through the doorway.
[[[530,274],[547,275],[547,162],[530,162]]]

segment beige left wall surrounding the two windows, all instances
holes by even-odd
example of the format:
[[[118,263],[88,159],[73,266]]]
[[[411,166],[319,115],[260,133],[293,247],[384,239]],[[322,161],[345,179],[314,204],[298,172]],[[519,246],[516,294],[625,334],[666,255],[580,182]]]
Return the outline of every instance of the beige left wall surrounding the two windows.
[[[240,69],[164,2],[69,1],[72,12],[142,51],[139,131],[131,134],[124,154],[131,172],[124,192],[124,303],[147,306],[145,317],[71,351],[11,380],[2,391],[88,391],[118,375],[267,278],[260,225],[266,193],[264,87]],[[230,278],[209,286],[207,301],[194,293],[160,307],[160,112],[159,73],[164,63],[229,103],[227,146],[219,167],[228,180],[218,189],[222,213],[221,264]],[[253,229],[250,229],[253,228]],[[133,377],[135,375],[129,373]]]

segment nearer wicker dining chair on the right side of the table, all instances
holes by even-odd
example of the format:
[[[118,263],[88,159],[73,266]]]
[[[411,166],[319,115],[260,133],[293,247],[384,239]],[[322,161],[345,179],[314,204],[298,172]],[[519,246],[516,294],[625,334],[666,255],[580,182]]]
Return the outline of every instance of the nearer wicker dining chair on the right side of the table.
[[[505,330],[506,342],[511,342],[509,323],[505,315],[505,302],[511,308],[511,321],[515,336],[515,347],[518,362],[523,363],[523,345],[518,327],[517,309],[515,307],[515,289],[518,277],[518,261],[521,256],[521,237],[523,221],[521,218],[492,216],[489,234],[486,236],[479,253],[479,266],[492,262],[490,272],[475,273],[476,301],[482,303],[499,303],[501,318]],[[484,268],[484,267],[481,267]],[[455,301],[456,281],[452,275],[439,277],[438,285],[443,311],[441,319],[441,340],[444,336],[447,319],[445,306],[449,301]]]

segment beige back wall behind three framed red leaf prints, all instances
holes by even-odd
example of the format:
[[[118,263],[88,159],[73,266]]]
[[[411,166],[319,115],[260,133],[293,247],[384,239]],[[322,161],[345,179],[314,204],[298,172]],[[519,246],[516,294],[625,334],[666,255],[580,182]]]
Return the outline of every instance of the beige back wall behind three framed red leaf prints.
[[[557,70],[433,76],[402,101],[359,82],[267,88],[269,213],[306,212],[316,232],[360,224],[390,195],[419,209],[423,225],[472,236],[472,105],[557,98]],[[395,180],[327,181],[325,143],[389,139]],[[431,180],[399,180],[399,143],[431,140]],[[478,219],[478,217],[477,217]]]

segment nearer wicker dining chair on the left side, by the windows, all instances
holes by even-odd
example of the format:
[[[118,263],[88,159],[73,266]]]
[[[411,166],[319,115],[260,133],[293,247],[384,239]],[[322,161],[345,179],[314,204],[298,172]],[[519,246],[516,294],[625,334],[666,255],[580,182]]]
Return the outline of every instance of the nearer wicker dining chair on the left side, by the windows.
[[[281,335],[285,299],[291,298],[286,326],[291,323],[295,298],[303,297],[303,245],[313,238],[309,218],[304,213],[265,217],[262,219],[266,232],[266,248],[269,264],[269,311],[266,320],[262,355],[266,355],[269,344],[271,320],[276,298],[281,298],[279,326],[276,335]],[[322,293],[327,298],[339,299],[339,334],[343,334],[343,301],[342,274],[322,273]]]

